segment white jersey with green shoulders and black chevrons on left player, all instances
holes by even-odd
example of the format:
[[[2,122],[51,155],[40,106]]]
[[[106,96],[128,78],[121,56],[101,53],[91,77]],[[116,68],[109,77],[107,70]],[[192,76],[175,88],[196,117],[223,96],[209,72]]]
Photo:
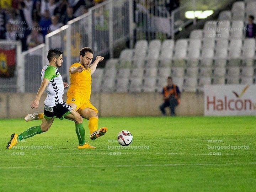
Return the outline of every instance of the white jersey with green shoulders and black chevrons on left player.
[[[44,100],[44,105],[54,107],[58,103],[63,103],[64,85],[58,69],[51,65],[44,66],[41,72],[41,80],[43,81],[44,78],[50,81],[46,86],[47,97]]]

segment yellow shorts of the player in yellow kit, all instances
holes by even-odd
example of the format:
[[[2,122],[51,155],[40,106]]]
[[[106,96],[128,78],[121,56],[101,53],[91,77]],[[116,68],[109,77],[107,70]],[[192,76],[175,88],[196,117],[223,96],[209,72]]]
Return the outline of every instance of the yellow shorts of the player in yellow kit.
[[[77,112],[85,108],[90,108],[94,110],[96,113],[98,113],[98,110],[91,104],[90,100],[81,94],[75,94],[75,93],[68,94],[66,103],[74,103],[77,106],[76,108]]]

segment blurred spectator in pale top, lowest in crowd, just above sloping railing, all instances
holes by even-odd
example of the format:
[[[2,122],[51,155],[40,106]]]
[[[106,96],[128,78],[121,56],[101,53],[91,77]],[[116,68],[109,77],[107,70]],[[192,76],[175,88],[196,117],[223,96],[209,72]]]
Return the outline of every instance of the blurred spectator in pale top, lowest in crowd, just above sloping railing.
[[[31,34],[27,37],[28,49],[31,49],[43,43],[43,35],[40,31],[37,30],[37,28],[39,28],[39,24],[36,21],[34,21],[33,23],[34,29],[32,30]]]

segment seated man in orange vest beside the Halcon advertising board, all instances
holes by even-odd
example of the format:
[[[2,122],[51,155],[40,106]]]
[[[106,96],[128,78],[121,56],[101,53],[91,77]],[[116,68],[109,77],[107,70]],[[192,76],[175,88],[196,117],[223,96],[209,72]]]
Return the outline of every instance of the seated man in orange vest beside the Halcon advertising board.
[[[170,107],[171,116],[176,116],[175,107],[180,103],[180,90],[178,86],[172,83],[172,78],[167,78],[167,86],[162,90],[164,102],[160,105],[160,110],[163,116],[166,116],[165,107]]]

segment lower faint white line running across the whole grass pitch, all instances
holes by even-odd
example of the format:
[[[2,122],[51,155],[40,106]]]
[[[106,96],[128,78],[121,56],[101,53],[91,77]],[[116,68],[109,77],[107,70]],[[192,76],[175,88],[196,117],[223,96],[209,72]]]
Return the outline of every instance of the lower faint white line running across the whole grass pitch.
[[[52,168],[89,168],[89,167],[174,167],[174,166],[223,166],[223,165],[251,165],[256,162],[236,162],[236,163],[196,163],[196,164],[137,164],[137,165],[53,165],[53,166],[16,166],[0,167],[0,169],[52,169]]]

